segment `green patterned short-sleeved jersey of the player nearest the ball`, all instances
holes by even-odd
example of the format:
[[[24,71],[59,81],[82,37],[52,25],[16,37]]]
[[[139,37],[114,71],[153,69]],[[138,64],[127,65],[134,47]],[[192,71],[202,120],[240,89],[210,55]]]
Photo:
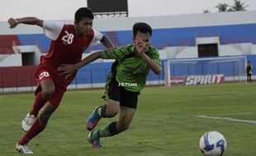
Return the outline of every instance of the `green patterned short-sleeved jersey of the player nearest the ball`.
[[[161,66],[159,52],[154,47],[149,47],[146,55]],[[103,59],[115,59],[107,83],[111,78],[116,78],[119,85],[125,89],[140,92],[145,87],[146,77],[149,74],[149,65],[142,57],[135,56],[135,46],[126,45],[107,49],[101,53]]]

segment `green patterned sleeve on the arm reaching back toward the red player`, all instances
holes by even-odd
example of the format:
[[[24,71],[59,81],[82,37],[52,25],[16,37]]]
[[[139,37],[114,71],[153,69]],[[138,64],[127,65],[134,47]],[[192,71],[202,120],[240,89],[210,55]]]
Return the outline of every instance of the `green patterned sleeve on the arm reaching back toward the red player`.
[[[132,52],[134,52],[133,46],[115,47],[102,51],[100,57],[103,59],[121,60]]]

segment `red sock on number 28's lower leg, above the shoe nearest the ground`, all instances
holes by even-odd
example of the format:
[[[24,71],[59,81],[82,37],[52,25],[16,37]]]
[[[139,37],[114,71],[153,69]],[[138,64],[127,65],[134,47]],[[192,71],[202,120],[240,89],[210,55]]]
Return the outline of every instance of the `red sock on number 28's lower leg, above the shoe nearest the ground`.
[[[21,140],[19,140],[19,145],[26,145],[32,138],[34,138],[36,135],[38,135],[41,131],[43,131],[45,127],[40,126],[40,123],[38,119],[36,118],[36,121],[31,126],[30,131],[26,132],[26,135],[24,135]]]

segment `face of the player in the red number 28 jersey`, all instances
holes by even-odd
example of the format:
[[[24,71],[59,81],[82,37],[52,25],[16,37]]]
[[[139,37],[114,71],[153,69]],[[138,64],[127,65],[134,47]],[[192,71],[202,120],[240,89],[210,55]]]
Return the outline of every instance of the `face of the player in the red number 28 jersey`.
[[[92,19],[84,17],[82,20],[75,22],[75,25],[77,25],[78,35],[87,35],[92,29]]]

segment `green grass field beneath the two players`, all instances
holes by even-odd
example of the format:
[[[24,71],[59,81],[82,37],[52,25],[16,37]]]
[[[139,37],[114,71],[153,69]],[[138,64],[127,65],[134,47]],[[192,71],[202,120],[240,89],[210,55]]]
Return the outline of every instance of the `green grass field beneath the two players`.
[[[206,131],[220,131],[227,140],[225,156],[255,156],[256,124],[201,118],[230,117],[256,122],[256,83],[149,87],[140,95],[130,129],[103,138],[104,149],[88,144],[85,121],[104,102],[103,89],[69,91],[45,131],[31,140],[34,155],[45,156],[200,156],[198,142]],[[34,95],[0,95],[0,155],[15,156],[24,135],[21,119]],[[102,119],[98,126],[116,120]]]

